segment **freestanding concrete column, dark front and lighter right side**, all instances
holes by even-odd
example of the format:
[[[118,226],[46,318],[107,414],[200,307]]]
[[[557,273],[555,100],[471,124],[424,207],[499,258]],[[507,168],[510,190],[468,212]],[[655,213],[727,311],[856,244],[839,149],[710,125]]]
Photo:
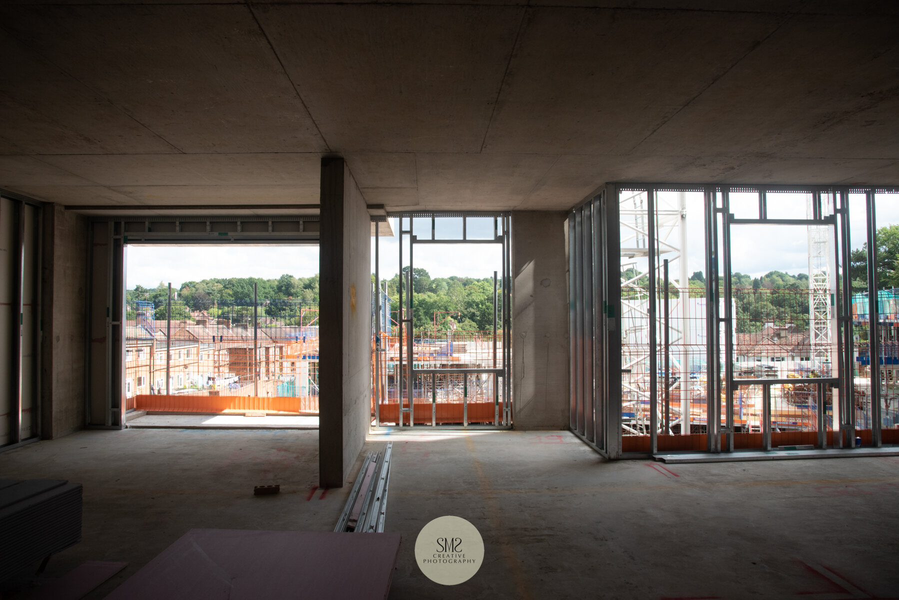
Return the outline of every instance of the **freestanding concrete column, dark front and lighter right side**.
[[[319,485],[340,488],[369,432],[371,225],[343,158],[323,158],[319,250]]]

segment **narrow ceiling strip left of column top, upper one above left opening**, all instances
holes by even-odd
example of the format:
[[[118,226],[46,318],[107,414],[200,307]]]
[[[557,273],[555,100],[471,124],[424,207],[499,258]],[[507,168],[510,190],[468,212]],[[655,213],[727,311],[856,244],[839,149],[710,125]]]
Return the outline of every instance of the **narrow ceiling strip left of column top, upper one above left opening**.
[[[298,185],[318,188],[316,154],[190,154],[41,157],[101,185]]]

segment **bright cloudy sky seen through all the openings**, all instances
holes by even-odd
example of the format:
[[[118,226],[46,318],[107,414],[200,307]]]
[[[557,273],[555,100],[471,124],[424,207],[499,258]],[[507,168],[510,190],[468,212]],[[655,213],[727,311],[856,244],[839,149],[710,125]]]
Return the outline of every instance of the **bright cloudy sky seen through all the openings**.
[[[877,226],[899,223],[899,194],[880,195],[878,199]],[[689,273],[705,270],[701,201],[701,194],[688,194]],[[743,206],[749,205],[747,202]],[[736,202],[733,206],[734,211],[738,210]],[[772,210],[777,211],[777,214],[772,214]],[[804,201],[799,194],[781,194],[769,202],[770,217],[803,218],[804,212]],[[850,241],[853,247],[860,247],[865,242],[867,234],[864,216],[864,198],[853,196],[850,198]],[[753,277],[773,270],[793,274],[808,272],[806,228],[734,226],[733,233],[734,272],[749,273]],[[404,248],[404,252],[407,252],[407,248]],[[396,237],[381,237],[382,278],[390,277],[397,272],[397,254]],[[372,257],[374,257],[373,241]],[[414,266],[426,269],[432,277],[450,275],[492,277],[494,271],[502,270],[501,260],[499,245],[417,245]],[[373,263],[372,270],[374,270]],[[290,273],[296,277],[309,277],[318,273],[318,247],[128,246],[129,288],[133,288],[135,284],[156,287],[159,282],[172,282],[178,285],[209,277],[275,279],[283,273]]]

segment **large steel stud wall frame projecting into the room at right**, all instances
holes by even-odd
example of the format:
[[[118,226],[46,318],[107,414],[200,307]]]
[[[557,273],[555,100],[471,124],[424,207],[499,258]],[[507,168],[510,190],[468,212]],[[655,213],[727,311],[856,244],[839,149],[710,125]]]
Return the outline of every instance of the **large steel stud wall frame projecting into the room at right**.
[[[651,399],[651,423],[649,452],[629,453],[622,448],[622,338],[619,318],[622,314],[620,256],[619,194],[622,192],[645,193],[645,220],[647,223],[649,287],[658,287],[657,269],[662,269],[658,256],[654,219],[654,202],[658,192],[701,193],[703,198],[703,222],[705,235],[706,273],[706,378],[707,378],[707,432],[706,452],[734,452],[734,396],[741,386],[761,386],[764,422],[761,427],[761,450],[772,446],[771,392],[772,386],[792,383],[806,385],[814,390],[816,412],[816,445],[824,447],[853,447],[856,444],[857,424],[854,400],[853,365],[859,361],[853,348],[855,332],[867,333],[870,357],[870,394],[872,426],[870,444],[899,443],[899,436],[890,431],[889,441],[884,440],[880,415],[881,356],[878,348],[877,322],[877,220],[875,210],[878,193],[897,193],[895,187],[858,186],[803,186],[803,185],[722,185],[722,184],[607,184],[600,193],[593,194],[576,206],[568,219],[568,293],[570,335],[570,427],[584,442],[610,459],[646,456],[658,452],[658,416],[654,405],[658,400],[659,348],[661,341],[657,327],[661,327],[654,313],[656,302],[648,301],[649,315],[649,390]],[[759,197],[757,219],[737,219],[730,206],[732,193],[755,193]],[[804,193],[810,198],[806,219],[770,218],[767,196],[770,193]],[[865,309],[867,323],[852,320],[852,292],[850,289],[850,223],[849,195],[864,194],[868,241],[868,299]],[[829,202],[829,209],[824,204]],[[732,226],[787,225],[808,228],[810,257],[822,273],[815,272],[810,286],[810,327],[814,327],[814,346],[818,354],[828,354],[830,373],[819,377],[800,376],[747,379],[734,370],[735,318],[732,277]],[[814,234],[814,235],[813,235]],[[823,241],[822,236],[829,240]],[[814,237],[814,239],[813,239]],[[685,251],[685,250],[684,250]],[[814,256],[813,256],[814,255]],[[823,266],[823,262],[830,266]],[[660,263],[660,264],[655,264]],[[683,285],[684,283],[681,282]],[[824,297],[832,292],[832,306],[825,307]],[[651,297],[658,294],[651,294]],[[819,298],[820,296],[820,298]],[[856,299],[858,301],[858,299]],[[819,322],[820,321],[820,322]],[[667,332],[665,332],[667,333]],[[828,347],[825,347],[828,346]],[[664,363],[668,363],[665,356]],[[667,372],[667,368],[665,368]],[[717,401],[718,397],[722,401]],[[832,396],[832,434],[826,431],[825,418],[829,412],[827,398]],[[667,404],[665,405],[667,406]],[[724,412],[725,414],[722,414]],[[667,417],[666,417],[667,419]],[[685,432],[689,433],[689,432]],[[743,446],[745,447],[745,446]]]

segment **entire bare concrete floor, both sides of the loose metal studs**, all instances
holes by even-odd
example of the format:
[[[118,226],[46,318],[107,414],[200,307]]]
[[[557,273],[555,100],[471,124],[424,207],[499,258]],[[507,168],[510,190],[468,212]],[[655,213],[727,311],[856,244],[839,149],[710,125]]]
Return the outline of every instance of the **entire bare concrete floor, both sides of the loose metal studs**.
[[[46,576],[129,561],[88,596],[102,598],[193,527],[330,531],[349,486],[315,489],[317,435],[85,431],[0,454],[0,474],[85,485],[83,542]],[[372,434],[363,454],[387,440],[387,530],[404,539],[393,600],[899,597],[896,457],[604,462],[565,432]],[[254,497],[263,483],[281,494]],[[456,587],[414,564],[415,536],[441,515],[485,541]]]

